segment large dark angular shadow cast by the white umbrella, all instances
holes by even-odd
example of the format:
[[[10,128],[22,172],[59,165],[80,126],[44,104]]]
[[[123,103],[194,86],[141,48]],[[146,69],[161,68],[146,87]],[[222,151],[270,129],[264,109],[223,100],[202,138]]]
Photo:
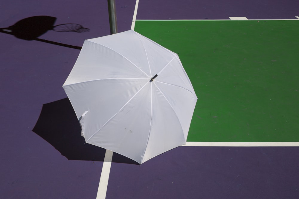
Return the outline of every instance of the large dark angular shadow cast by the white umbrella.
[[[68,98],[44,104],[32,131],[54,146],[68,160],[104,161],[106,149],[85,143]],[[113,153],[112,162],[139,165],[117,153]]]

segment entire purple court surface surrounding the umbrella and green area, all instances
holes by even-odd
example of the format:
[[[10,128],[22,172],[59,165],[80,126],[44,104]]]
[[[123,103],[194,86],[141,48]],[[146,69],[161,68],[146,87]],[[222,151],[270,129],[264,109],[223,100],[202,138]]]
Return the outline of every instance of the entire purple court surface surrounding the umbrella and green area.
[[[119,32],[131,28],[135,4],[116,0]],[[137,19],[298,15],[295,0],[140,0]],[[48,16],[43,30],[27,23],[40,23],[33,16]],[[61,86],[84,39],[110,34],[107,1],[2,1],[0,28],[0,198],[97,198],[105,150],[84,144]],[[141,166],[114,154],[106,198],[298,198],[298,153],[184,146]]]

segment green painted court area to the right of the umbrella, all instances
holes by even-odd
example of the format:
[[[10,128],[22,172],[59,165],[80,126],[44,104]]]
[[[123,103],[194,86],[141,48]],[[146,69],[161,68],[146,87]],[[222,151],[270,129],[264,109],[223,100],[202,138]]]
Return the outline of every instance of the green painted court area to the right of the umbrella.
[[[187,141],[299,141],[299,21],[137,21],[198,97]]]

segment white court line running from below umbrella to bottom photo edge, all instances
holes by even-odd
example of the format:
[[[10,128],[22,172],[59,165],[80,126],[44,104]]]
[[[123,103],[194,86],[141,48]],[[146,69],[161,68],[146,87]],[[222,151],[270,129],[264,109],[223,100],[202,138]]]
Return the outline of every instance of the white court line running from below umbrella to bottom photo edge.
[[[113,155],[113,152],[106,149],[102,173],[101,173],[101,177],[100,177],[99,188],[97,189],[97,199],[105,199],[106,198],[112,155]]]

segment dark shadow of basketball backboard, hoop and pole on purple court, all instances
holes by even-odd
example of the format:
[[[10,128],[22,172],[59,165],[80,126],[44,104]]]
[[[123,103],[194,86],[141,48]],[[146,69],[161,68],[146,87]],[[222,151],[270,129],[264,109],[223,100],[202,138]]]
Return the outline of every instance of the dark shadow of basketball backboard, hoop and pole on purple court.
[[[29,41],[31,40],[42,41],[49,44],[55,44],[59,46],[80,50],[82,48],[80,46],[72,46],[68,44],[62,44],[59,42],[38,38],[39,36],[45,34],[49,30],[54,30],[57,32],[76,32],[76,33],[83,33],[89,31],[89,28],[84,28],[80,24],[60,24],[54,26],[56,19],[57,19],[56,17],[51,17],[51,16],[32,16],[32,17],[24,18],[9,27],[0,28],[0,32],[13,35],[19,39],[24,39]]]

